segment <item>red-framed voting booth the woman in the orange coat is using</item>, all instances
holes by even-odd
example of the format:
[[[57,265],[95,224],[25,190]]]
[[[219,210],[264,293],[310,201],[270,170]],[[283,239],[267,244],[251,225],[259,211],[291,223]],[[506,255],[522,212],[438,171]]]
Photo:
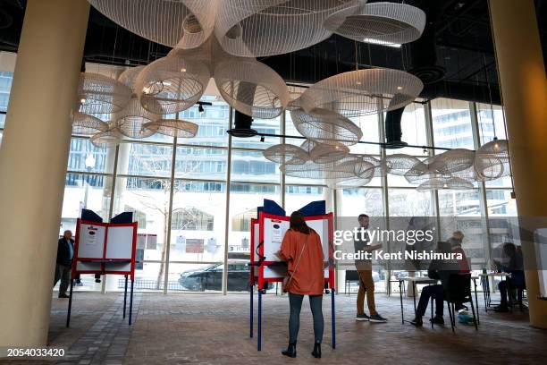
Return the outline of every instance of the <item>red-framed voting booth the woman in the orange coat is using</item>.
[[[316,204],[322,203],[322,204]],[[254,308],[253,288],[256,285],[258,291],[257,305],[257,350],[261,351],[262,342],[262,295],[268,283],[282,282],[287,274],[287,265],[276,256],[281,249],[283,237],[290,227],[290,216],[286,216],[271,200],[265,199],[265,206],[258,208],[257,218],[251,219],[250,225],[250,337],[254,335]],[[314,202],[316,209],[299,209],[309,214],[305,216],[307,225],[319,235],[323,246],[324,262],[332,262],[333,255],[333,216],[332,213],[324,214],[324,201]],[[281,209],[281,210],[280,210]],[[271,213],[272,211],[275,214]],[[323,213],[323,214],[317,214]],[[332,304],[332,348],[335,348],[335,314],[334,314],[334,268],[331,265],[324,269],[325,292],[331,294]]]

